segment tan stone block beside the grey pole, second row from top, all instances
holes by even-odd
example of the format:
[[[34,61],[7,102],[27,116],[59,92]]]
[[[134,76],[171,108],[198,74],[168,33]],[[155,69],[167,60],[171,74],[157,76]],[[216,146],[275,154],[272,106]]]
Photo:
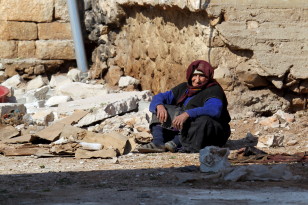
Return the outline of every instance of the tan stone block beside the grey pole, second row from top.
[[[71,40],[71,26],[69,23],[39,23],[38,38],[40,40]]]

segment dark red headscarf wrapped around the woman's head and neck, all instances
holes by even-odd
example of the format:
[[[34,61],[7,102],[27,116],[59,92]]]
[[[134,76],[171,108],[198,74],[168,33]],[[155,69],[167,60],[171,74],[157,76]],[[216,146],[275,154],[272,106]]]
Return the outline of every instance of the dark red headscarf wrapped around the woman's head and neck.
[[[201,71],[207,80],[198,86],[192,86],[191,78],[195,70]],[[211,87],[213,85],[219,85],[218,82],[213,78],[214,77],[214,68],[206,61],[197,60],[192,62],[186,71],[187,79],[187,91],[179,98],[177,104],[181,104],[185,101],[187,97],[193,96],[200,92],[203,89]]]

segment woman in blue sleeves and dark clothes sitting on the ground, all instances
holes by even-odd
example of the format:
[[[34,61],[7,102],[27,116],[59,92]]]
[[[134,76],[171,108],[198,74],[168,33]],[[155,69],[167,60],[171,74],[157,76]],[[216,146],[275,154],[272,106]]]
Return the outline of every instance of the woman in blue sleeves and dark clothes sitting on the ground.
[[[194,153],[227,142],[231,133],[228,102],[213,75],[208,62],[194,61],[187,69],[186,83],[153,97],[153,141],[140,146],[139,152]]]

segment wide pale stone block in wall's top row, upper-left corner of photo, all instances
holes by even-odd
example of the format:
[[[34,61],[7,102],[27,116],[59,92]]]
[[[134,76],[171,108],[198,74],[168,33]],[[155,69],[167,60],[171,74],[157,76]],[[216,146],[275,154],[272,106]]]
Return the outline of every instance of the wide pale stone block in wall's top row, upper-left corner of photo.
[[[54,0],[2,0],[6,20],[9,21],[52,21]]]

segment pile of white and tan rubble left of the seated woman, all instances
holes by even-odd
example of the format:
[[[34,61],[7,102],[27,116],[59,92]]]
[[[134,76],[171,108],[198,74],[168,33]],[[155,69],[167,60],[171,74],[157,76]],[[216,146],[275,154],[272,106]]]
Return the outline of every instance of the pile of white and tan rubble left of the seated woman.
[[[27,83],[15,75],[2,85],[10,90],[0,104],[5,156],[113,158],[150,140],[149,91],[110,89],[77,69]]]

